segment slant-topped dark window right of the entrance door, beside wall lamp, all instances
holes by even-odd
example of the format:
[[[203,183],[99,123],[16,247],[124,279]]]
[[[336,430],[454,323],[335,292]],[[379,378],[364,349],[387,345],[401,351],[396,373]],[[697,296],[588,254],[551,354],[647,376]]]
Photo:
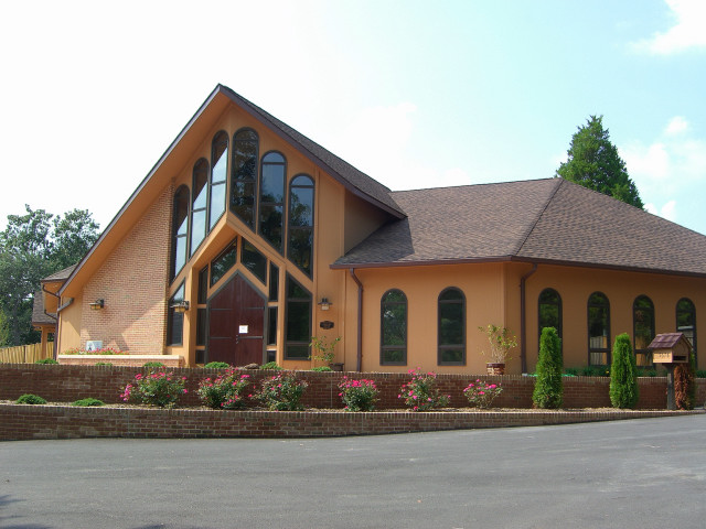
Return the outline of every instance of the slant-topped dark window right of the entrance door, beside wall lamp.
[[[306,360],[309,358],[311,341],[311,292],[289,274],[287,274],[286,292],[285,359]]]

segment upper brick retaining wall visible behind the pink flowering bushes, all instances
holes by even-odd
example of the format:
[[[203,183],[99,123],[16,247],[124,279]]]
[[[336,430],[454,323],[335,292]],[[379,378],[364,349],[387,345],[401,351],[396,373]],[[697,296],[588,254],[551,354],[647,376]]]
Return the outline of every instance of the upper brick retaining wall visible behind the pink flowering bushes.
[[[109,361],[109,359],[107,359]],[[195,389],[205,377],[216,377],[217,369],[178,368],[170,369],[180,377],[188,377],[189,393],[182,406],[199,406]],[[105,402],[120,402],[119,395],[125,386],[140,373],[139,367],[118,366],[66,366],[36,364],[0,365],[0,400],[15,400],[22,393],[35,393],[49,401],[73,402],[94,397]],[[255,384],[272,371],[247,371]],[[307,380],[309,388],[304,392],[304,404],[322,409],[341,408],[338,384],[344,375],[352,378],[374,379],[381,390],[377,409],[404,408],[397,398],[399,388],[409,380],[406,374],[341,374],[297,371],[298,377]],[[533,377],[516,375],[504,377],[482,377],[484,380],[501,382],[504,391],[495,401],[502,408],[532,408]],[[463,375],[439,375],[438,387],[451,395],[451,406],[467,407],[463,388],[475,377]],[[608,387],[610,379],[601,377],[571,377],[564,379],[565,408],[608,408],[610,399]],[[666,379],[661,377],[641,378],[638,409],[664,409],[666,407]],[[697,379],[697,403],[706,401],[706,379]]]

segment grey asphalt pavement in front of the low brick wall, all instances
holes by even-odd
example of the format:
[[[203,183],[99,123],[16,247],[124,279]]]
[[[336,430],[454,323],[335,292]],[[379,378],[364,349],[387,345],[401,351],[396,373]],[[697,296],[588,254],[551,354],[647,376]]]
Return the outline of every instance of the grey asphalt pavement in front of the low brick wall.
[[[706,415],[0,443],[2,528],[704,528]]]

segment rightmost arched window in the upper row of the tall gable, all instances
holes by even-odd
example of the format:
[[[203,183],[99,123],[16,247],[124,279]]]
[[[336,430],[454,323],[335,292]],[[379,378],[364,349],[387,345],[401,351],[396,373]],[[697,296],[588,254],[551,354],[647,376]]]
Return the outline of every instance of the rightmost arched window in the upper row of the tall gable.
[[[313,180],[300,174],[289,184],[287,257],[307,276],[313,269]]]

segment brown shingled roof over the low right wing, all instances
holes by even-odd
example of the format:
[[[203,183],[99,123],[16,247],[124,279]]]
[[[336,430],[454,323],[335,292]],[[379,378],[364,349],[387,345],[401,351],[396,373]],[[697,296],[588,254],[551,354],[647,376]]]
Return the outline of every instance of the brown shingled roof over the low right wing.
[[[561,179],[395,192],[332,268],[526,261],[706,277],[706,236]]]

